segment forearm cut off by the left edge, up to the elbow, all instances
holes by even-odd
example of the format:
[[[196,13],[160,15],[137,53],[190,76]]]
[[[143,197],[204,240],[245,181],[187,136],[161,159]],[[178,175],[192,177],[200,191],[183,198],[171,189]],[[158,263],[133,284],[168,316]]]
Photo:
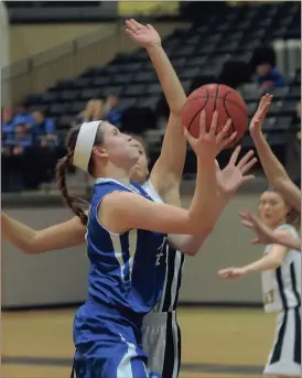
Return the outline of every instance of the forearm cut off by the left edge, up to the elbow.
[[[25,253],[32,251],[36,230],[12,219],[3,213],[1,214],[1,229],[2,236],[9,239],[17,248],[20,248]]]

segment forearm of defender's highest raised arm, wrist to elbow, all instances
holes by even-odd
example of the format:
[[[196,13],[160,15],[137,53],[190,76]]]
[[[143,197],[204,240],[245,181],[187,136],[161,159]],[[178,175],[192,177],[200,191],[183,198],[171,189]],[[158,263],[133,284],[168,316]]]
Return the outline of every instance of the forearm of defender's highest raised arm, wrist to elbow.
[[[159,44],[148,46],[147,51],[158,74],[170,111],[180,115],[186,101],[186,95],[168,55]]]

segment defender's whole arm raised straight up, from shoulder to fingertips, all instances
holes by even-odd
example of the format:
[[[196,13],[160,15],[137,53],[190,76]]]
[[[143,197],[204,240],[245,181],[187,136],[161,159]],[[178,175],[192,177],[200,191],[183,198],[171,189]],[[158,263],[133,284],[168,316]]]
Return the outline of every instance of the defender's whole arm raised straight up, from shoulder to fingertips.
[[[186,95],[169,57],[162,48],[160,35],[154,28],[151,25],[144,26],[136,20],[126,21],[126,25],[127,33],[147,50],[170,108],[170,118],[161,154],[152,169],[150,179],[164,202],[180,206],[179,188],[186,153],[181,111],[186,101]]]

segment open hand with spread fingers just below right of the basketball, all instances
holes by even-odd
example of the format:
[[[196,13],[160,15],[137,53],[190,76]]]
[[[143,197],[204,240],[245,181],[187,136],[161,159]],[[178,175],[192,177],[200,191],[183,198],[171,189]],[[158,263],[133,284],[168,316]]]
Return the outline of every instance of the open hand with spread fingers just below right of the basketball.
[[[228,164],[223,170],[217,170],[218,190],[227,196],[231,196],[241,184],[255,179],[252,174],[247,174],[257,162],[254,151],[248,151],[237,163],[241,147],[238,145]]]

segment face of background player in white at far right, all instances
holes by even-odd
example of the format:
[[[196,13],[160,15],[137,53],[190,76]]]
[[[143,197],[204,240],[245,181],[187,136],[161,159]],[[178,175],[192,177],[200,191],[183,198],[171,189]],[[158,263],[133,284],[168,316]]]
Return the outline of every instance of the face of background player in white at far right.
[[[289,206],[284,203],[281,195],[277,192],[265,192],[260,197],[259,214],[261,220],[270,228],[287,220]]]

